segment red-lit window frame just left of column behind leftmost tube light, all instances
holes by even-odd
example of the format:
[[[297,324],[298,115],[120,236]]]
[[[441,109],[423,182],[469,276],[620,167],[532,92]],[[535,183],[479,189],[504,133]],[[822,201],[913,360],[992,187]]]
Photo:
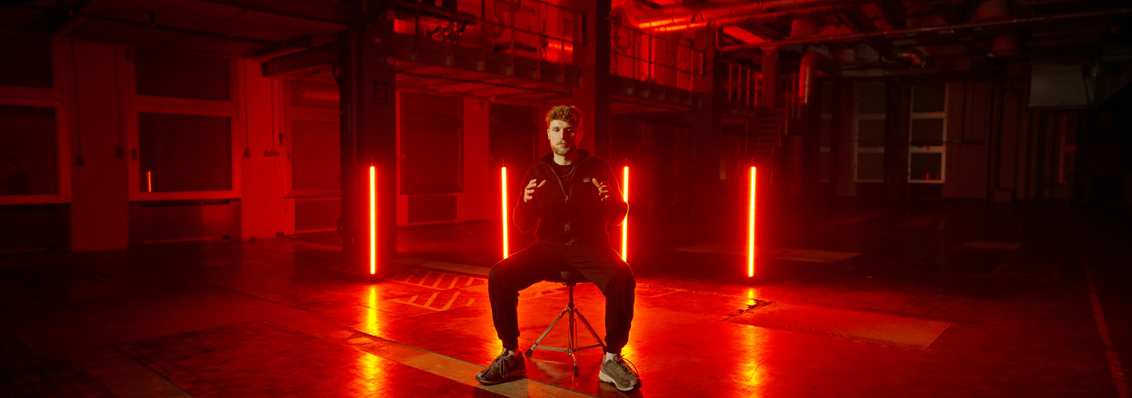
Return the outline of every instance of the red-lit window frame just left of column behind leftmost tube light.
[[[294,105],[291,103],[291,83],[315,83],[315,84],[334,84],[333,81],[326,80],[308,80],[308,79],[275,79],[272,84],[277,84],[281,87],[275,89],[274,100],[280,104],[282,112],[282,120],[277,121],[282,123],[282,131],[286,135],[283,145],[276,146],[281,152],[285,152],[286,155],[286,167],[283,167],[283,192],[284,198],[295,199],[295,198],[332,198],[342,197],[341,176],[342,172],[338,171],[338,188],[294,188],[293,175],[294,175],[294,122],[319,122],[319,123],[335,123],[338,124],[341,139],[341,124],[342,116],[341,111],[337,109],[319,107],[319,106],[305,106]],[[338,100],[341,101],[341,98]],[[272,140],[277,140],[278,137],[272,137]],[[342,161],[341,148],[338,149],[338,162]],[[280,156],[284,154],[281,153]]]

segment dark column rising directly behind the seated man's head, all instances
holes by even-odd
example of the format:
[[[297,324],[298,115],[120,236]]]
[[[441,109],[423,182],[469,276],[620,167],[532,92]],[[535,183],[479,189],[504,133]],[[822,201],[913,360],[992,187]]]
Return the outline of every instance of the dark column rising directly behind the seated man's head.
[[[578,6],[583,6],[578,2]],[[583,41],[576,50],[575,64],[582,67],[582,86],[574,89],[574,105],[582,110],[582,148],[591,150],[595,156],[612,156],[612,136],[610,124],[612,116],[609,111],[609,87],[612,85],[609,76],[610,26],[609,1],[584,3],[585,26]],[[578,7],[581,8],[581,7]]]

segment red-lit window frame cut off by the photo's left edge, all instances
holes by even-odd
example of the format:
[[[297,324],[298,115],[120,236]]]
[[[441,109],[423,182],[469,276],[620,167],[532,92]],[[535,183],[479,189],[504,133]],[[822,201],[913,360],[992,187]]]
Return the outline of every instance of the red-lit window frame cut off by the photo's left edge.
[[[70,57],[69,40],[51,41],[51,88],[0,86],[0,104],[14,106],[53,107],[55,110],[55,162],[59,167],[58,193],[42,194],[3,194],[3,205],[57,205],[71,201],[71,126],[76,122],[70,113],[75,101],[71,68],[75,68]],[[65,72],[66,71],[66,72]]]

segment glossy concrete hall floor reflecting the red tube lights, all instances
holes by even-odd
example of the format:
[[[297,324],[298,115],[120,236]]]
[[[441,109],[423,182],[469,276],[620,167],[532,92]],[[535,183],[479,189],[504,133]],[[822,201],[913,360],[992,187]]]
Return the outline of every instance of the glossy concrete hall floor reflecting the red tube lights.
[[[498,242],[470,223],[402,230],[378,282],[334,235],[0,258],[0,396],[1127,397],[1126,214],[838,200],[763,223],[754,285],[731,226],[634,224],[638,391],[598,381],[597,351],[577,377],[537,352],[528,378],[475,383]],[[564,293],[522,293],[524,348]],[[577,303],[603,334],[600,292]]]

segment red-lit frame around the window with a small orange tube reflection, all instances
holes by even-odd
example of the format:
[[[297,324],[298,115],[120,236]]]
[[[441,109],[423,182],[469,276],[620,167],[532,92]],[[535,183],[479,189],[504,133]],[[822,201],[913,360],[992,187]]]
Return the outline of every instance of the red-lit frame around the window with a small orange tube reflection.
[[[243,86],[243,62],[237,62],[237,60],[230,57],[217,57],[215,54],[201,54],[203,57],[217,57],[224,58],[229,62],[229,90],[230,95],[228,101],[222,100],[197,100],[197,98],[179,98],[179,97],[162,97],[153,95],[142,95],[137,94],[137,78],[135,72],[134,63],[134,49],[135,47],[121,47],[118,57],[120,58],[120,63],[126,66],[119,70],[119,80],[121,83],[120,89],[121,95],[125,96],[126,101],[122,101],[122,114],[123,114],[123,128],[126,129],[127,144],[129,145],[129,150],[127,154],[129,159],[129,200],[130,201],[152,201],[152,200],[192,200],[192,199],[239,199],[240,198],[240,156],[238,155],[240,150],[238,148],[243,147],[242,137],[240,137],[241,131],[247,131],[247,120],[243,114],[243,107],[240,106],[246,98],[245,93],[239,89]],[[164,50],[163,50],[164,51]],[[200,115],[200,116],[225,116],[231,120],[231,153],[230,162],[232,164],[232,189],[229,190],[214,190],[214,191],[173,191],[173,192],[144,192],[142,191],[142,176],[140,176],[140,158],[139,153],[139,138],[138,138],[138,114],[139,113],[170,113],[170,114],[185,114],[185,115]]]

